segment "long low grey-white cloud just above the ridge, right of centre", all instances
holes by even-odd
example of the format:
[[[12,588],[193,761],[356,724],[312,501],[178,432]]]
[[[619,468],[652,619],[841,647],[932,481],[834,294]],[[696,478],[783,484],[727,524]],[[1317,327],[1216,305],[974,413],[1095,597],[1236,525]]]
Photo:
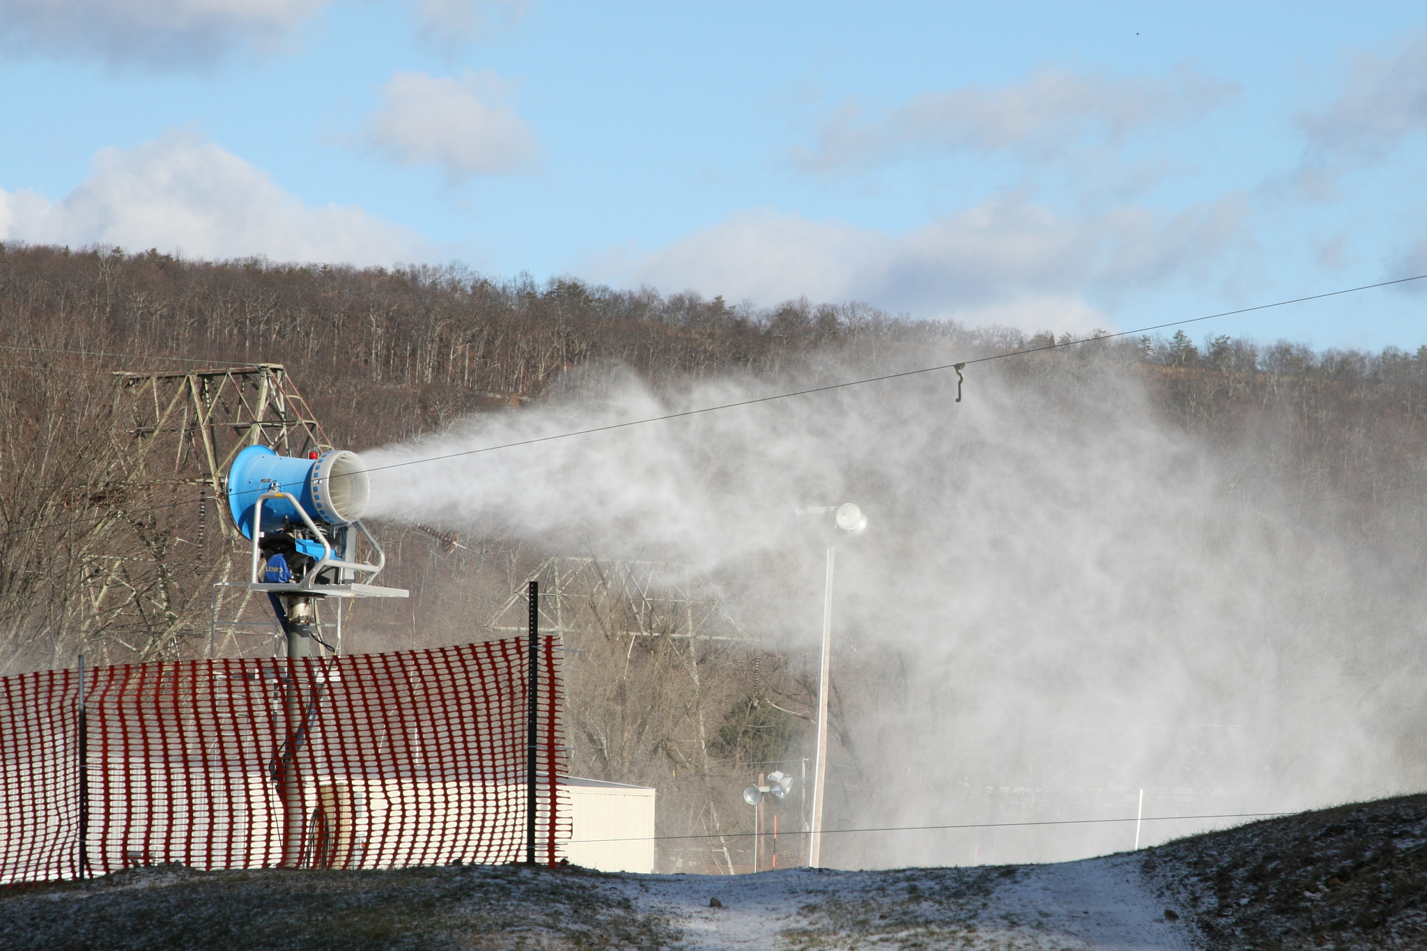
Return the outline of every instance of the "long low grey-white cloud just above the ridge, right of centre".
[[[608,255],[592,271],[625,285],[694,288],[761,305],[808,295],[969,324],[1085,331],[1109,327],[1109,318],[1083,294],[1192,272],[1244,238],[1247,214],[1241,197],[1227,195],[1174,217],[1119,208],[1072,220],[1002,195],[886,234],[756,210],[649,254]]]

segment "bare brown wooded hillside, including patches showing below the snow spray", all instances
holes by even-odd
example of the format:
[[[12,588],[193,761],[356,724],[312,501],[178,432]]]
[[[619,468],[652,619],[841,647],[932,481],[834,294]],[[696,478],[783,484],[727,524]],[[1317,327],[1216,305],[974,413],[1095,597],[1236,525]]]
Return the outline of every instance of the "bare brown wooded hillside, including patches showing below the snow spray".
[[[979,381],[992,375],[1029,391],[1075,385],[1076,374],[1104,368],[1132,374],[1166,425],[1226,461],[1227,495],[1251,502],[1271,486],[1274,505],[1284,495],[1340,499],[1330,510],[1306,506],[1304,525],[1378,546],[1401,570],[1427,560],[1421,533],[1384,528],[1424,522],[1427,341],[1367,354],[1216,335],[1193,341],[1183,332],[1090,336],[968,368],[965,398],[976,399]],[[655,391],[738,376],[776,392],[791,378],[826,384],[835,374],[1073,341],[1052,329],[919,321],[869,304],[798,299],[759,309],[572,278],[492,279],[458,265],[291,267],[0,245],[0,672],[68,666],[80,649],[117,663],[191,657],[207,647],[214,576],[200,553],[213,550],[213,538],[203,542],[208,549],[180,538],[191,535],[180,519],[188,509],[173,518],[156,509],[118,528],[100,518],[101,488],[123,465],[130,438],[114,371],[283,364],[331,442],[362,451],[472,412],[527,412],[621,374]],[[450,536],[442,526],[380,532],[391,577],[415,596],[410,615],[368,616],[371,633],[354,649],[489,636],[479,624],[541,559],[585,555],[544,552],[522,539]],[[161,597],[138,613],[100,616],[96,559],[141,562],[134,539],[167,557]],[[611,617],[624,610],[614,600],[589,605]],[[618,633],[622,624],[604,629]],[[568,670],[572,700],[605,692],[599,710],[586,704],[571,716],[575,766],[622,781],[662,777],[662,788],[689,793],[669,800],[682,803],[678,810],[661,813],[665,831],[719,826],[718,810],[729,807],[723,791],[709,791],[711,776],[745,776],[745,764],[801,756],[813,687],[805,659],[739,643],[651,639],[636,650],[616,642],[611,663],[628,673],[638,657],[646,676],[614,684],[588,647],[588,669]],[[696,756],[678,734],[694,716],[669,686],[679,677],[696,683],[692,707],[712,724],[699,734]],[[843,739],[850,749],[853,737]]]

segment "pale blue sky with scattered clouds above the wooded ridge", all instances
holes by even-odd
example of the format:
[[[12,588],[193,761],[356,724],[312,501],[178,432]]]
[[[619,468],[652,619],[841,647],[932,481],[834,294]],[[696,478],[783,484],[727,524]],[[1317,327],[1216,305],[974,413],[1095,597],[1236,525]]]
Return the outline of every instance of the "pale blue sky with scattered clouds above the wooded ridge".
[[[1410,3],[0,0],[0,83],[10,241],[1059,332],[1427,274]],[[1427,287],[1192,331],[1416,349]]]

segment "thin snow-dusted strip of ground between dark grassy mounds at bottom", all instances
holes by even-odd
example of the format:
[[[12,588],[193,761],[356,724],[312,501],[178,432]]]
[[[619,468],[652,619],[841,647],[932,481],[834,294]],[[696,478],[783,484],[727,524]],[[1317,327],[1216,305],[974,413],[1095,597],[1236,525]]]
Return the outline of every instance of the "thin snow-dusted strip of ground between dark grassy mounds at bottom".
[[[1110,855],[1007,868],[621,875],[611,884],[639,911],[668,915],[689,951],[1190,951],[1190,927],[1166,917],[1142,861]],[[715,898],[722,907],[709,905]]]

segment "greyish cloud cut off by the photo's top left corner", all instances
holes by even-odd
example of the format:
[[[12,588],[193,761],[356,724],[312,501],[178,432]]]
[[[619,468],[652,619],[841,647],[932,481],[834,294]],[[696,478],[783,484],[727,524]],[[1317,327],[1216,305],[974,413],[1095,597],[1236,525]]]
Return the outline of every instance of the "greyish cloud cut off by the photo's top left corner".
[[[204,64],[270,47],[328,0],[3,0],[0,37],[19,51],[110,63]]]

